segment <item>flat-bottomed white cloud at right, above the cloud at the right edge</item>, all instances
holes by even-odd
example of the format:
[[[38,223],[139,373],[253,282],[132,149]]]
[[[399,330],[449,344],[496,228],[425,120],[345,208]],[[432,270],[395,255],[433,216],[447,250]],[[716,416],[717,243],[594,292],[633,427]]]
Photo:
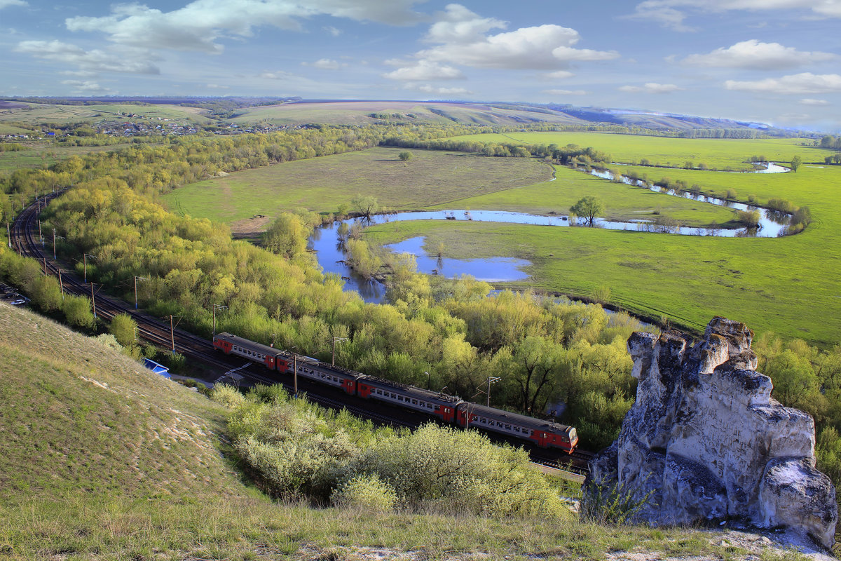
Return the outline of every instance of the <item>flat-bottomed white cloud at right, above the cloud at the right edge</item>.
[[[760,43],[752,39],[736,45],[720,48],[706,55],[687,56],[683,63],[690,66],[722,66],[727,68],[751,68],[772,70],[794,68],[813,62],[833,61],[838,55],[821,51],[796,50],[779,43]]]

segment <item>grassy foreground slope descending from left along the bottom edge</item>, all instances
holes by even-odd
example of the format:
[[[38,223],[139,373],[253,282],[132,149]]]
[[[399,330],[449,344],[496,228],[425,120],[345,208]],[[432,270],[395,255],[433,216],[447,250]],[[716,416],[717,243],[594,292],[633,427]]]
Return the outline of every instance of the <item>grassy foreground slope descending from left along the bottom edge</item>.
[[[220,457],[224,411],[50,320],[0,304],[0,554],[313,558],[336,547],[603,558],[722,553],[680,530],[376,515],[276,504]]]

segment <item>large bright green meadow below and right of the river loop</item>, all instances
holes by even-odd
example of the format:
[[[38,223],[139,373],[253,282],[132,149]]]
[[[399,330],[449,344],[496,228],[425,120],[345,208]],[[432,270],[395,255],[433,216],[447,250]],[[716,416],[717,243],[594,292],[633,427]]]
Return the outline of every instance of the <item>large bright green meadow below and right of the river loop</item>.
[[[672,170],[669,170],[672,172]],[[677,176],[678,174],[672,174]],[[712,315],[746,322],[755,331],[775,331],[829,347],[841,334],[841,167],[801,167],[799,172],[750,175],[681,172],[701,185],[732,180],[741,193],[790,198],[807,204],[815,221],[784,238],[671,236],[590,228],[478,223],[405,223],[368,229],[377,243],[428,236],[426,244],[445,246],[447,257],[483,254],[522,257],[534,263],[533,286],[589,295],[611,288],[614,304],[637,313],[672,318],[700,329]],[[703,176],[703,177],[700,177]],[[707,180],[706,177],[709,177]],[[610,188],[633,189],[614,183]],[[531,188],[526,188],[526,193]],[[500,204],[508,192],[499,193]],[[485,204],[487,198],[476,202]],[[660,198],[664,195],[655,195]],[[618,199],[619,196],[616,196]],[[528,209],[521,201],[518,209]],[[608,205],[611,204],[608,199]],[[473,201],[466,199],[463,205]],[[539,203],[539,199],[538,199]]]

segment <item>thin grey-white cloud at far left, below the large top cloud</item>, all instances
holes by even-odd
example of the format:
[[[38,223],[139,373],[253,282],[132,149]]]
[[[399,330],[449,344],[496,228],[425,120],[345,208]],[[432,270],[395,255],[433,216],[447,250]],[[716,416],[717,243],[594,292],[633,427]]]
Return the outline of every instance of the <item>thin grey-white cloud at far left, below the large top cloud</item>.
[[[57,40],[21,41],[14,50],[46,61],[78,66],[79,71],[87,76],[93,76],[98,72],[161,73],[158,67],[151,63],[151,60],[157,60],[156,56],[152,56],[145,50],[119,49],[112,52],[98,49],[84,50],[77,45]]]

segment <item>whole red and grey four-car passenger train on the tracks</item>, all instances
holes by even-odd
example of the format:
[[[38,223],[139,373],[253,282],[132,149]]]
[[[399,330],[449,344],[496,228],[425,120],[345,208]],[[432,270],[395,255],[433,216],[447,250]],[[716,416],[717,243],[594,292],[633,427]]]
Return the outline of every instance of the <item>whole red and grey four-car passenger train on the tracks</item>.
[[[213,344],[216,349],[225,354],[245,357],[255,363],[261,363],[269,370],[292,373],[297,366],[298,375],[304,378],[340,388],[347,394],[357,395],[365,400],[383,401],[403,409],[423,412],[447,423],[463,427],[469,410],[471,427],[520,438],[537,444],[539,447],[561,448],[569,453],[572,453],[578,444],[578,435],[573,426],[468,403],[455,395],[375,378],[347,368],[322,363],[311,357],[301,355],[293,357],[290,352],[249,341],[230,333],[220,333],[215,336]]]

